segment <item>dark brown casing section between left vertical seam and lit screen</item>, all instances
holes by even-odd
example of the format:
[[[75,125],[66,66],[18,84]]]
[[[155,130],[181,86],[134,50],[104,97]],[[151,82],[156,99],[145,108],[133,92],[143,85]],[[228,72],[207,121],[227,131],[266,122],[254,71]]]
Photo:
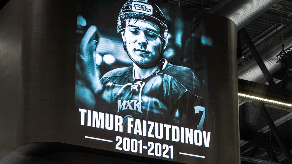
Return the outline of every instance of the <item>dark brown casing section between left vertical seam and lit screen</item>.
[[[18,145],[64,142],[61,138],[68,128],[66,110],[74,107],[75,3],[38,0],[21,3],[25,112],[20,122],[23,128],[18,130]]]

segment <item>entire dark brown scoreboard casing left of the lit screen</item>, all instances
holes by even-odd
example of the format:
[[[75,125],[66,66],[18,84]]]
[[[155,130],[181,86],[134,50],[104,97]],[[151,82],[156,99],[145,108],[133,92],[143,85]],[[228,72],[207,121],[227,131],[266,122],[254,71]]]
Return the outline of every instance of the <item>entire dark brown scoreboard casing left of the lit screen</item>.
[[[27,143],[64,142],[74,108],[75,12],[74,1],[50,0],[11,0],[0,10],[0,158]]]

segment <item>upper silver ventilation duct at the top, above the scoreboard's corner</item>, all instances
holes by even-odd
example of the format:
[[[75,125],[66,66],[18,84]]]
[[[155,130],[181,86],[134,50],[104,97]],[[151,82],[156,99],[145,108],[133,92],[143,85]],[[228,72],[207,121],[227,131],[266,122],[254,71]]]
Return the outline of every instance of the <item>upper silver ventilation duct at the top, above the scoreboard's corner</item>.
[[[222,0],[208,12],[231,19],[237,31],[280,0]]]

